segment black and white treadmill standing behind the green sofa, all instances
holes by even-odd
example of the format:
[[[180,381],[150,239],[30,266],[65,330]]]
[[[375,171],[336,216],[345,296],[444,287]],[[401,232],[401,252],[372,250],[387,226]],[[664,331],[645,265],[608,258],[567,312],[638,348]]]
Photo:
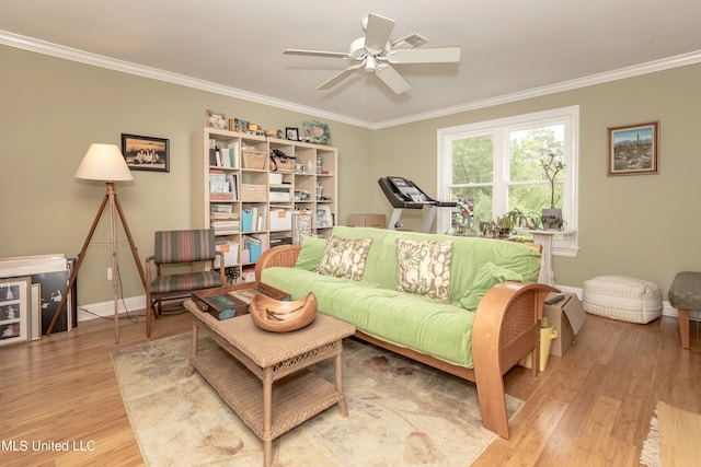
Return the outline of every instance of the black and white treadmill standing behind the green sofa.
[[[390,201],[394,210],[387,229],[395,230],[402,224],[399,222],[402,210],[404,209],[424,209],[428,207],[428,215],[424,220],[424,233],[430,231],[430,226],[436,219],[437,208],[455,208],[458,206],[455,201],[437,201],[426,195],[424,190],[417,187],[412,180],[404,177],[389,176],[382,177],[377,183],[382,188],[384,196]]]

